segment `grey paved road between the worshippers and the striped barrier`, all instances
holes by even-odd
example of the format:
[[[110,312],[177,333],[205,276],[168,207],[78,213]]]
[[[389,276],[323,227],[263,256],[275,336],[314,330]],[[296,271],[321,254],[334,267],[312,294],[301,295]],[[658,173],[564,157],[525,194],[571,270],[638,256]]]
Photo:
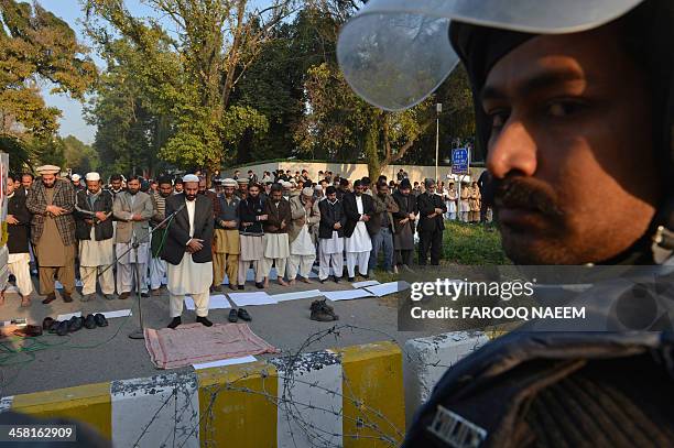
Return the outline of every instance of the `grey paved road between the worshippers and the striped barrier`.
[[[337,285],[333,282],[320,284],[314,281],[314,284],[298,283],[290,288],[273,283],[268,293],[280,294],[315,288],[335,291],[352,287],[344,282]],[[258,289],[249,285],[247,291]],[[6,305],[0,307],[0,320],[26,317],[30,323],[42,323],[44,317],[55,317],[58,314],[83,312],[86,315],[128,308],[133,308],[133,316],[110,319],[110,326],[106,328],[81,329],[65,337],[43,336],[36,339],[39,347],[35,347],[43,348],[48,345],[48,348],[11,356],[9,359],[4,352],[0,351],[0,362],[2,362],[0,364],[0,396],[150,376],[162,372],[151,363],[144,341],[128,338],[128,334],[138,328],[138,301],[134,296],[128,301],[97,298],[88,303],[81,303],[76,298],[70,304],[57,298],[50,305],[43,305],[40,302],[41,298],[35,296],[30,308],[21,308],[18,296],[9,293]],[[146,327],[162,328],[170,321],[167,295],[152,296],[142,301]],[[333,327],[333,323],[317,323],[309,319],[312,301],[309,298],[278,305],[248,307],[253,318],[250,327],[253,332],[279,349],[296,351],[309,335]],[[350,325],[359,329],[344,329],[339,337],[330,336],[322,339],[312,345],[308,351],[391,338],[402,343],[409,338],[428,335],[427,332],[396,331],[396,303],[391,297],[337,302],[333,305],[340,317],[337,324]],[[210,310],[209,318],[215,323],[226,323],[228,313],[229,309]],[[194,312],[184,312],[183,323],[194,321]],[[4,361],[2,361],[3,357]],[[8,365],[10,363],[13,365]]]

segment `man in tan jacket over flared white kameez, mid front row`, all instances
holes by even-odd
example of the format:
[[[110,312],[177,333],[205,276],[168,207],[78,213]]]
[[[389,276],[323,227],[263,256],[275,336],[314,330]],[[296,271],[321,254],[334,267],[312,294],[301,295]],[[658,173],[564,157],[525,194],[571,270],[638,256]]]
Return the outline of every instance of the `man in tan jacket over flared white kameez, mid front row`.
[[[290,259],[287,261],[287,280],[295,283],[297,273],[304,283],[309,281],[309,273],[316,260],[316,226],[320,222],[318,200],[314,199],[314,189],[306,187],[301,195],[291,197]]]

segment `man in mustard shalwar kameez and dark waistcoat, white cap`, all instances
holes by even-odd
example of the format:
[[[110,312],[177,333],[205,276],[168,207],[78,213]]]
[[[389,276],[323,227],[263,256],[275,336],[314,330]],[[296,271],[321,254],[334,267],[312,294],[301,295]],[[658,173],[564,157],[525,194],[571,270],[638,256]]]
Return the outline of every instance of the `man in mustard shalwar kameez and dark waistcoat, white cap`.
[[[213,287],[221,289],[225,274],[229,281],[229,288],[236,289],[239,273],[239,199],[235,195],[237,181],[226,178],[222,181],[222,194],[218,197],[219,214],[215,218],[215,233],[213,236]]]

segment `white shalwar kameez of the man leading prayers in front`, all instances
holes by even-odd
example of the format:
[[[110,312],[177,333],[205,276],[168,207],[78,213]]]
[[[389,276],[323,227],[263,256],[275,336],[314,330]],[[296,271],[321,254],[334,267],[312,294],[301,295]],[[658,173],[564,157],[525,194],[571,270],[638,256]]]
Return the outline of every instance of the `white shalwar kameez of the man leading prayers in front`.
[[[189,238],[194,236],[194,214],[196,200],[185,201],[187,215],[189,216]],[[206,248],[210,250],[210,248]],[[213,262],[195,263],[192,253],[185,252],[178,265],[166,263],[166,276],[168,284],[168,297],[171,317],[180,317],[183,314],[183,303],[188,294],[194,301],[196,315],[208,316],[209,291],[213,283]]]

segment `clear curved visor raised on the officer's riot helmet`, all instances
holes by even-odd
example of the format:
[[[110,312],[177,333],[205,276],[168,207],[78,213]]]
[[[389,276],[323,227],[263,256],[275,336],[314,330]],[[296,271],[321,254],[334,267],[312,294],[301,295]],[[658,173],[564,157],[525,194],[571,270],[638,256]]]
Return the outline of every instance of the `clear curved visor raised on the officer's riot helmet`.
[[[337,59],[366,101],[403,110],[431,95],[458,64],[452,20],[533,34],[591,30],[643,0],[370,0],[343,29]]]

